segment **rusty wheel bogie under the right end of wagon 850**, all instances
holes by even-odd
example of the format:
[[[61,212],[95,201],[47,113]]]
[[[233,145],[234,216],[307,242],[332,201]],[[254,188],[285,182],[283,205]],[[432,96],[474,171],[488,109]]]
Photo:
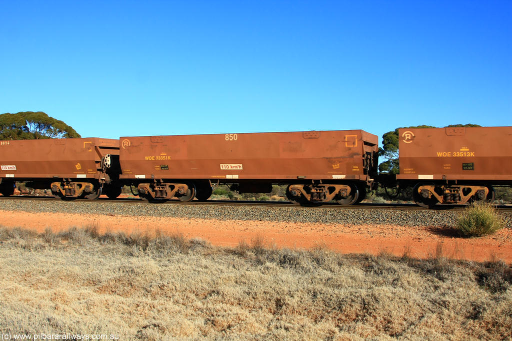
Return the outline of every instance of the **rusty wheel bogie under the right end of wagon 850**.
[[[340,184],[309,184],[288,186],[288,199],[297,202],[328,202],[353,195],[354,187]]]

